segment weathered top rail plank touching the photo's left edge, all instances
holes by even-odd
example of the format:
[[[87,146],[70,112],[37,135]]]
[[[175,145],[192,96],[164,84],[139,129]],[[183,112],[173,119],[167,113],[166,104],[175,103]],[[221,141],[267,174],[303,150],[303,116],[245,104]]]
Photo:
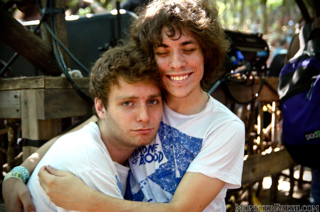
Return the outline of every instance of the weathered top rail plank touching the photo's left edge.
[[[44,88],[44,76],[0,79],[0,90]]]

